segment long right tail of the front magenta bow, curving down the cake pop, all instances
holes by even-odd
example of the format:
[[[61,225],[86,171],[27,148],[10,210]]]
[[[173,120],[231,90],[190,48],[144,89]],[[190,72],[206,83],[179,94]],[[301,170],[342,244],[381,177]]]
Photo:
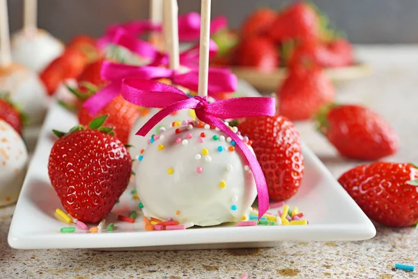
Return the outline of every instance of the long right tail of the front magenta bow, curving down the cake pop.
[[[256,181],[258,193],[258,220],[260,220],[263,214],[268,211],[269,199],[267,182],[265,181],[263,170],[261,169],[261,165],[258,163],[256,156],[249,150],[248,146],[242,142],[240,137],[233,133],[233,131],[226,126],[222,120],[203,114],[199,110],[196,110],[196,116],[201,119],[201,121],[204,121],[209,125],[216,126],[219,130],[222,130],[222,132],[231,137],[231,139],[235,141],[235,146],[238,147],[244,154],[245,158],[247,158],[248,165],[254,175],[254,180]]]

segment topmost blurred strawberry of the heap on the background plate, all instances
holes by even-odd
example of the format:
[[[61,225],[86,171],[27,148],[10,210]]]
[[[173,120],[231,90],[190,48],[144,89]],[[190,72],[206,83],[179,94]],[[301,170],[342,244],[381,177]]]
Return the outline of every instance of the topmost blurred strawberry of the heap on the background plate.
[[[320,36],[320,18],[308,3],[297,2],[277,14],[270,32],[277,42],[288,39],[311,40]]]

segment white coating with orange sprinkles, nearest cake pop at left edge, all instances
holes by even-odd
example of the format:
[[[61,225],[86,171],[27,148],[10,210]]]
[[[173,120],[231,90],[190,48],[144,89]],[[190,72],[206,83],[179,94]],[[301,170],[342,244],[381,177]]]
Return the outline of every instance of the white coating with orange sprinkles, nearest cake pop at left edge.
[[[0,120],[0,206],[17,201],[27,161],[28,152],[22,137],[8,123]]]

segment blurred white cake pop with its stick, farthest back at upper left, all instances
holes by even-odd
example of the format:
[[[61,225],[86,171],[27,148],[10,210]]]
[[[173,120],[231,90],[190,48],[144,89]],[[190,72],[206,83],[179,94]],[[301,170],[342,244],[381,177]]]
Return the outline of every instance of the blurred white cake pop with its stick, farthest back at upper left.
[[[24,27],[12,37],[13,61],[41,72],[64,51],[64,45],[37,27],[37,0],[24,0]]]

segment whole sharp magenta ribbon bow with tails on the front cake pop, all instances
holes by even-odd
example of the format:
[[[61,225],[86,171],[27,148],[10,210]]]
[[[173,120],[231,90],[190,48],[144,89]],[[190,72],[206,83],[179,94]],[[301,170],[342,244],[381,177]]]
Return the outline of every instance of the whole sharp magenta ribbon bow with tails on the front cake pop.
[[[254,174],[258,193],[258,218],[268,210],[268,190],[265,177],[258,160],[251,153],[247,144],[225,125],[221,119],[235,119],[251,116],[273,116],[275,114],[274,98],[247,97],[220,100],[208,103],[207,98],[188,96],[176,87],[139,78],[125,78],[122,82],[121,94],[128,102],[141,107],[162,108],[141,129],[137,135],[145,136],[157,123],[173,112],[194,109],[196,117],[201,121],[215,126],[235,141],[235,147],[240,149],[247,158],[249,167]]]

